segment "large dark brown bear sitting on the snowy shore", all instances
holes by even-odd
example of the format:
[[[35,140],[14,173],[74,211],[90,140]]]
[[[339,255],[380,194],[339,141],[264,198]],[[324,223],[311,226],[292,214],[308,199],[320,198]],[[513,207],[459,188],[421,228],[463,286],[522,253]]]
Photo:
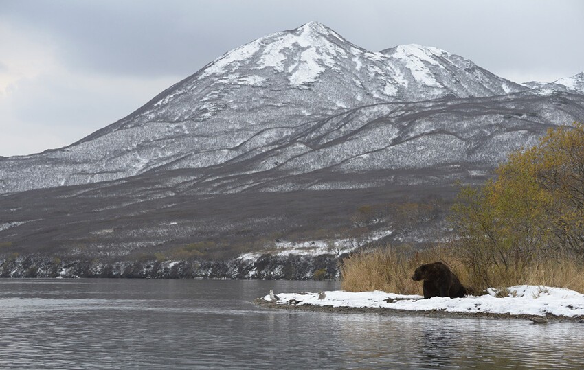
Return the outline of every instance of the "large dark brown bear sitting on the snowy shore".
[[[416,268],[412,280],[424,281],[424,298],[462,298],[467,295],[467,290],[460,284],[458,277],[442,262],[423,264]]]

